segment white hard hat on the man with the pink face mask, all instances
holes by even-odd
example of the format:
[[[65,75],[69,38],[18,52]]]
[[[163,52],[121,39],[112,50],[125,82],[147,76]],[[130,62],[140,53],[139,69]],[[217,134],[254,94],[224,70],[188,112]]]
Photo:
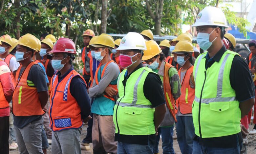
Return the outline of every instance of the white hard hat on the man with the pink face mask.
[[[116,48],[117,50],[129,50],[129,49],[139,49],[146,50],[146,44],[143,36],[136,32],[127,33],[121,40],[120,46]]]

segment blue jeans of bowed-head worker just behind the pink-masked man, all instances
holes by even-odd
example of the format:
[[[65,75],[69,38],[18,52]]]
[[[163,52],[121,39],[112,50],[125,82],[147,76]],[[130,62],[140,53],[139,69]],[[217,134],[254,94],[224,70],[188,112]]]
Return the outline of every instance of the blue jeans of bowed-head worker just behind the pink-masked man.
[[[173,149],[173,128],[172,127],[159,127],[158,128],[158,135],[156,137],[156,143],[153,152],[158,153],[158,145],[160,140],[160,135],[162,134],[162,148],[163,148],[163,154],[175,154]]]

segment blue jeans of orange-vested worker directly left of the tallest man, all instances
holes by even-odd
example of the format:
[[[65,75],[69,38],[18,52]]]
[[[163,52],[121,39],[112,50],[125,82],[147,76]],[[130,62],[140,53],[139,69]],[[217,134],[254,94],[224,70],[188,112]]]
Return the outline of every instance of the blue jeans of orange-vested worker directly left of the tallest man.
[[[177,140],[182,154],[192,154],[195,127],[192,116],[176,116]]]

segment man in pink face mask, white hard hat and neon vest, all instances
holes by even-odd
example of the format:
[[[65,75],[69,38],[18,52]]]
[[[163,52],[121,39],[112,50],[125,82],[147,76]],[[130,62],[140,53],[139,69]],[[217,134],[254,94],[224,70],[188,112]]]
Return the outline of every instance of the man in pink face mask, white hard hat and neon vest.
[[[161,79],[141,63],[146,49],[144,38],[135,32],[126,34],[117,48],[120,65],[126,68],[118,77],[114,108],[118,154],[153,153],[157,128],[165,116]]]

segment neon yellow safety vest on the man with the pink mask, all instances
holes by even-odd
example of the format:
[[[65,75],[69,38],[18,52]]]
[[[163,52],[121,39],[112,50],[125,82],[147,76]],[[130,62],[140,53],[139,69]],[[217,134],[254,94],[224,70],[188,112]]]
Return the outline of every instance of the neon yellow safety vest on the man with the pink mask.
[[[139,68],[130,75],[124,87],[122,81],[126,71],[125,69],[120,73],[117,81],[120,98],[114,107],[113,118],[116,133],[123,135],[155,134],[155,109],[143,92],[145,79],[148,73],[153,71],[148,67]]]

